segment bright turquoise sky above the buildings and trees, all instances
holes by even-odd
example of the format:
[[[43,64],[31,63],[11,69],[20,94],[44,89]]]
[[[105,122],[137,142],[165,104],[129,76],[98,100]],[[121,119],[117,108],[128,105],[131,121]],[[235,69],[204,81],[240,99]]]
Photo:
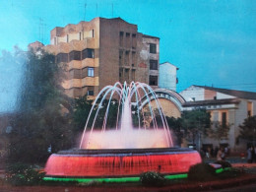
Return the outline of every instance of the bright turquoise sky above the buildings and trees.
[[[160,37],[160,63],[177,66],[177,92],[191,85],[256,92],[255,0],[0,0],[0,111],[15,105],[22,66],[3,50],[49,44],[50,31],[120,17]]]

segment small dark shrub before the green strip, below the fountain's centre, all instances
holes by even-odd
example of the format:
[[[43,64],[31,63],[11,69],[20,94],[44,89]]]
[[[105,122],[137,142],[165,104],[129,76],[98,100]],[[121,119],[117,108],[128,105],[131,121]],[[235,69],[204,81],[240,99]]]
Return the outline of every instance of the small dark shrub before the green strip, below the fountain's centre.
[[[144,172],[140,176],[140,181],[146,186],[162,186],[165,180],[166,179],[160,172],[155,171]]]

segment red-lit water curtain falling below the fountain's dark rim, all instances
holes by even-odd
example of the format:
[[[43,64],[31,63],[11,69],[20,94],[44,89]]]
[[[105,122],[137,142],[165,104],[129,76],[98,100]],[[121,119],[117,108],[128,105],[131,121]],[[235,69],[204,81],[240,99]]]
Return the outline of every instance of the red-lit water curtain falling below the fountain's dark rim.
[[[46,163],[46,175],[51,176],[131,176],[146,171],[163,174],[188,172],[189,167],[201,162],[197,152],[161,155],[86,156],[52,155]]]

